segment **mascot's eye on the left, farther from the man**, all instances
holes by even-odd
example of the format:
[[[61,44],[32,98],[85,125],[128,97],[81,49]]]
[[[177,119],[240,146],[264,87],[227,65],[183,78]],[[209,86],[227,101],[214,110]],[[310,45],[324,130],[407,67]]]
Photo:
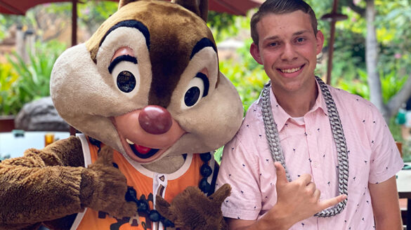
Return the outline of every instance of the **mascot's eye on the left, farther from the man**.
[[[108,70],[112,74],[117,88],[122,92],[130,93],[134,89],[138,89],[140,72],[138,71],[136,57],[129,55],[116,57]]]

